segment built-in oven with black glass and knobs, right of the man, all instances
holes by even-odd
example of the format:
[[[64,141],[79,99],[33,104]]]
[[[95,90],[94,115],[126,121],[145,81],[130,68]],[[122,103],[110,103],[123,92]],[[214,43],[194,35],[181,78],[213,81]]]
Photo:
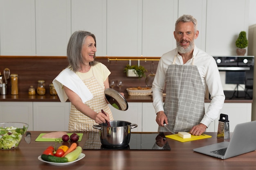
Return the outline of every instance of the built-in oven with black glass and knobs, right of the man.
[[[254,56],[213,56],[226,99],[252,99]]]

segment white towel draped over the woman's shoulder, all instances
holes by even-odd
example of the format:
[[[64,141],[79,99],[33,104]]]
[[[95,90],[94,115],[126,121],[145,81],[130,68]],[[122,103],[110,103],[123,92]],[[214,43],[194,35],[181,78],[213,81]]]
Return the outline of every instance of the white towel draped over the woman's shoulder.
[[[79,78],[79,76],[69,68],[65,68],[60,74],[58,74],[52,83],[61,102],[65,102],[68,99],[64,89],[62,88],[62,85],[65,85],[67,88],[75,92],[84,103],[93,98],[92,93],[83,83],[81,78]]]

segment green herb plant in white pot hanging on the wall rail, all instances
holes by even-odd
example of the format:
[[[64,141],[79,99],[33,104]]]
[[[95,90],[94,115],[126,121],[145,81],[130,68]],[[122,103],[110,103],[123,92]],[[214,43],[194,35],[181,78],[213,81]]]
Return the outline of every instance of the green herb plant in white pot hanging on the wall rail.
[[[148,72],[142,65],[126,65],[124,73],[127,77],[146,77],[145,72]]]

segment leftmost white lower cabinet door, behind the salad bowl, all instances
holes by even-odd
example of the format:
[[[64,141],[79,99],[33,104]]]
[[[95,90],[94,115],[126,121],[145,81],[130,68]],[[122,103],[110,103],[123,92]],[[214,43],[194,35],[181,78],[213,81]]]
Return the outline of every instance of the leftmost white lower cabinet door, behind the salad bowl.
[[[0,102],[0,122],[27,123],[28,131],[33,131],[32,102]]]

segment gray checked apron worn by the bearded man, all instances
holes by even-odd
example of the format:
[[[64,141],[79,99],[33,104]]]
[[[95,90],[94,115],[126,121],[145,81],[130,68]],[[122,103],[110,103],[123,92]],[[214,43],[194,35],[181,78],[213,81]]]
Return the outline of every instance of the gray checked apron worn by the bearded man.
[[[176,65],[176,57],[166,71],[164,113],[173,131],[190,131],[204,116],[205,90],[193,61],[192,65]],[[168,130],[159,126],[158,131]]]

